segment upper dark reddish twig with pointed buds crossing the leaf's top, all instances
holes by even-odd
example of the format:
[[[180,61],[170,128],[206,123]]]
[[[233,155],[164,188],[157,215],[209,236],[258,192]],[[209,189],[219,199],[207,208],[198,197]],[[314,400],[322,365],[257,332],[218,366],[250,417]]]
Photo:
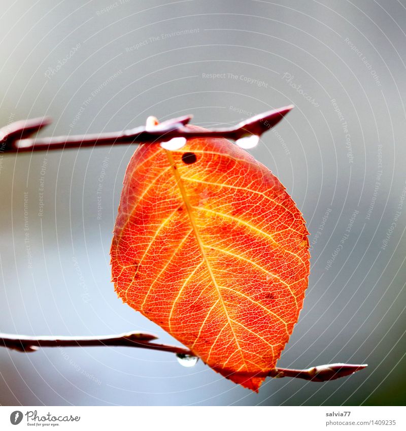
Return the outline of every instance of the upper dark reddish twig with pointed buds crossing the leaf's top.
[[[185,127],[191,115],[164,121],[155,126],[140,126],[129,130],[88,135],[56,136],[50,138],[28,138],[42,127],[51,123],[48,117],[33,118],[11,123],[0,128],[0,152],[48,151],[65,148],[93,147],[100,145],[121,145],[167,142],[173,138],[226,138],[237,141],[256,135],[274,127],[293,108],[292,105],[267,111],[237,124],[235,127],[214,130],[192,131]]]

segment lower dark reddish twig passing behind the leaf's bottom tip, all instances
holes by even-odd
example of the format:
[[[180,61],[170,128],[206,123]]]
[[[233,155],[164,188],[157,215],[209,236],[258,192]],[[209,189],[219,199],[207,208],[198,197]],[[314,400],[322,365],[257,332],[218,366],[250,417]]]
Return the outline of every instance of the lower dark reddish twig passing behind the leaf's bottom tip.
[[[184,347],[151,343],[152,340],[156,339],[157,337],[152,334],[143,334],[140,332],[95,337],[29,337],[0,333],[0,346],[20,352],[33,352],[40,347],[126,346],[161,350],[175,353],[179,356],[193,356],[192,351]],[[307,370],[275,368],[270,371],[267,376],[276,378],[294,377],[311,380],[313,382],[325,382],[327,380],[335,380],[340,377],[349,376],[365,367],[367,367],[366,364],[333,363],[312,367]]]

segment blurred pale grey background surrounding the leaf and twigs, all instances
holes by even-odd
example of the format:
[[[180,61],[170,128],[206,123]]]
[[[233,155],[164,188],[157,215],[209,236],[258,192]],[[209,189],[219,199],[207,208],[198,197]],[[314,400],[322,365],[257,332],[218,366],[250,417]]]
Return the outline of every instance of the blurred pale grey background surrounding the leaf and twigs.
[[[404,405],[404,0],[20,0],[0,14],[1,125],[50,115],[48,136],[193,114],[212,127],[294,104],[251,150],[311,233],[306,301],[278,364],[369,364],[256,394],[163,352],[1,348],[0,404]],[[176,343],[110,282],[133,150],[0,154],[0,330]]]

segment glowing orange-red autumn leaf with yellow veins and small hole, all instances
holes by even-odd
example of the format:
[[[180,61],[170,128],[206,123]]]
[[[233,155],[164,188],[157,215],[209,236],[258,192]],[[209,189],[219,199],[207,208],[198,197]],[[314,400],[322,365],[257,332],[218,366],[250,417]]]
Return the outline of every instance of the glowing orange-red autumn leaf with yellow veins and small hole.
[[[124,178],[112,277],[124,302],[215,371],[258,390],[302,308],[307,236],[280,181],[238,146],[144,144]]]

